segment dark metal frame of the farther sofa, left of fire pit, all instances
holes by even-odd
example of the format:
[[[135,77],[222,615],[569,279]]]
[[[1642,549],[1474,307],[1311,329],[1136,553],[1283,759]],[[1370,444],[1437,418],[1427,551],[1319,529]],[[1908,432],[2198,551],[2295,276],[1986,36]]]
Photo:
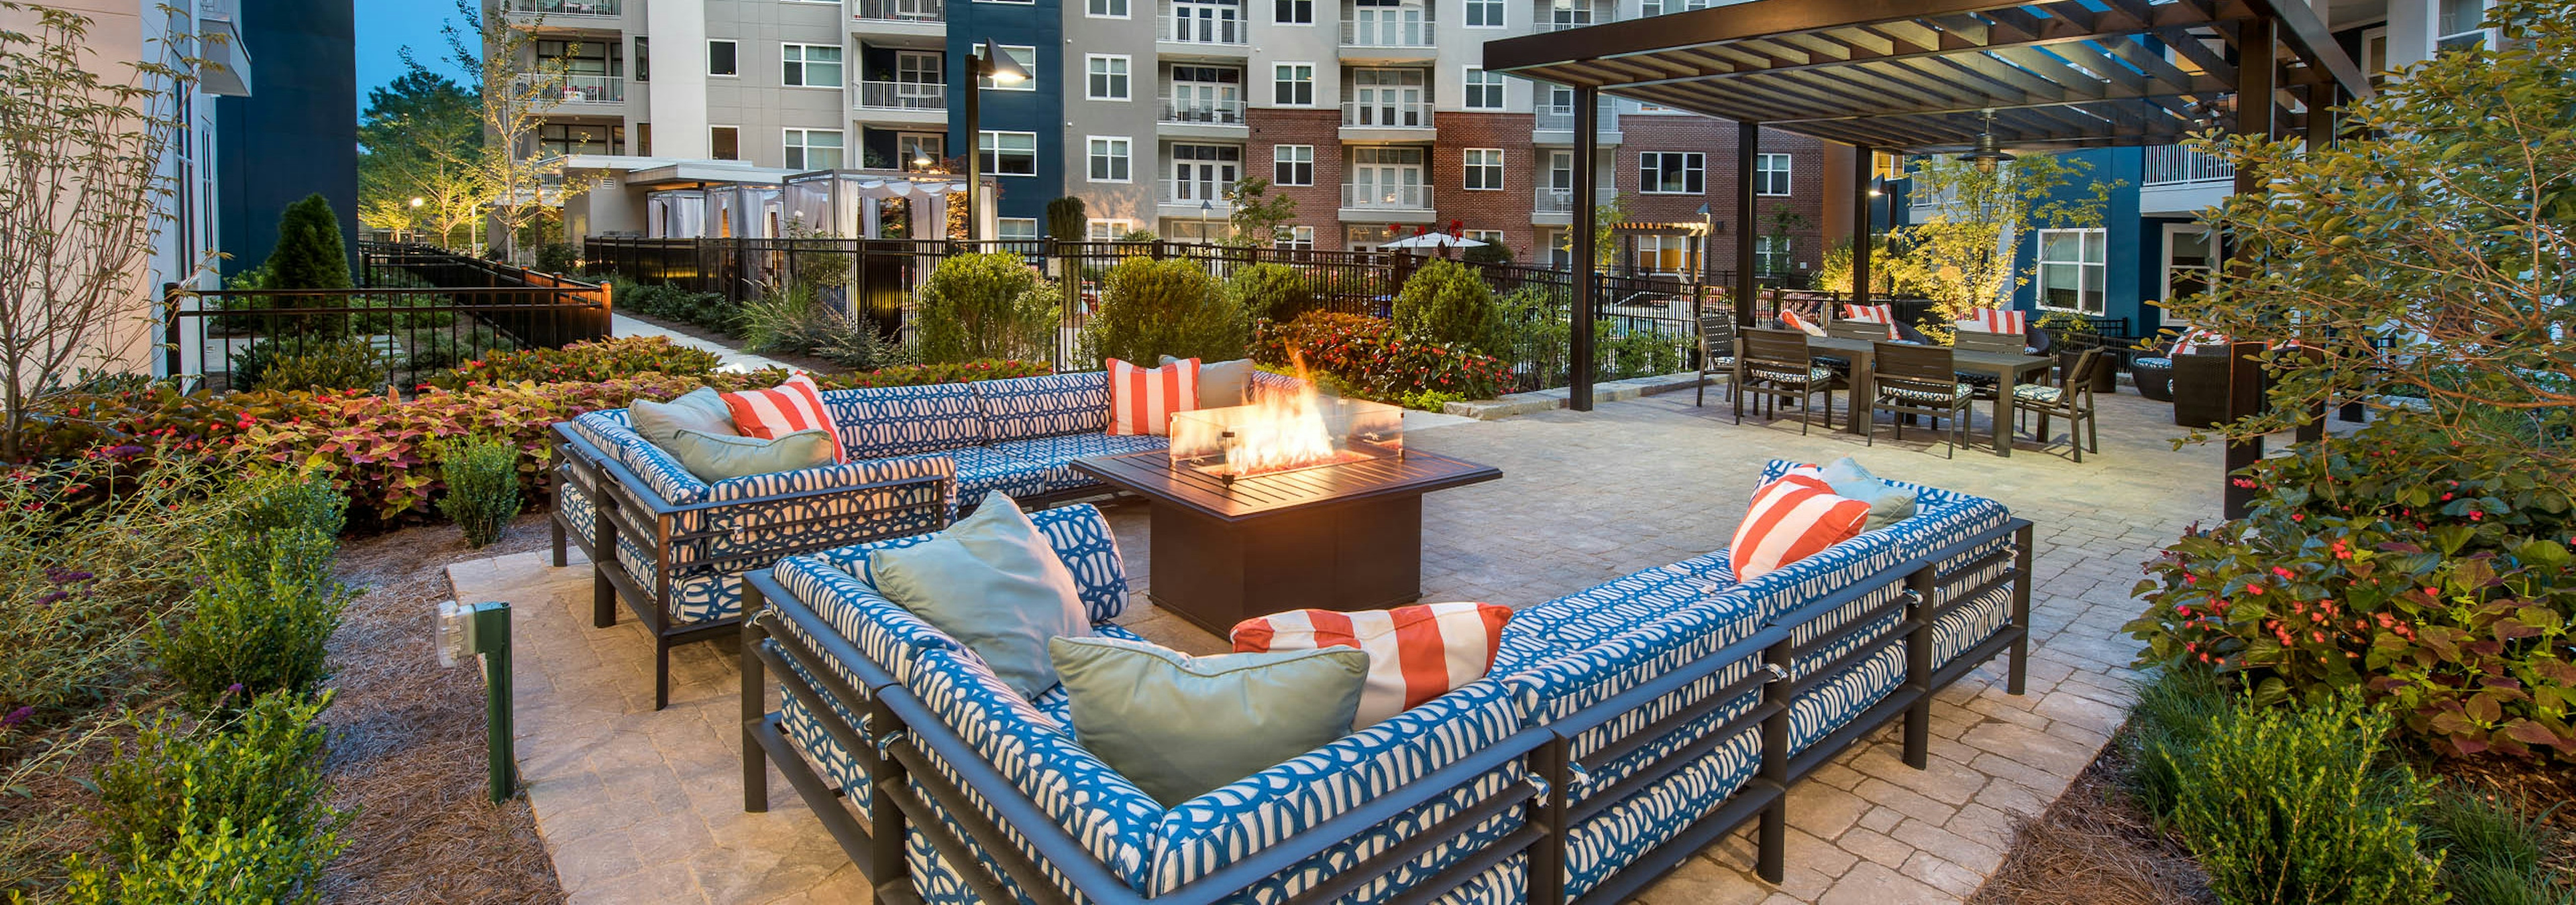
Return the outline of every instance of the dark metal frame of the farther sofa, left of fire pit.
[[[572,517],[564,506],[554,506],[554,514],[546,519],[554,540],[554,566],[569,563],[564,555],[567,540],[577,545],[582,555],[590,558],[590,622],[595,627],[618,625],[618,602],[623,599],[626,609],[631,609],[636,620],[644,622],[644,630],[654,635],[654,710],[670,707],[670,648],[693,640],[734,638],[742,625],[739,614],[706,622],[680,622],[672,609],[672,586],[683,578],[693,578],[698,573],[750,573],[768,568],[786,555],[845,548],[878,537],[917,535],[922,530],[938,530],[948,522],[948,478],[876,481],[755,499],[672,504],[654,494],[652,483],[644,483],[644,478],[623,463],[600,452],[600,447],[590,440],[582,440],[569,422],[559,422],[551,429],[554,455],[559,463],[556,481],[562,481],[559,486],[580,488],[582,496],[590,499],[592,509],[590,540],[582,540],[582,532],[569,522]],[[886,496],[884,506],[863,504],[871,496]],[[848,499],[850,504],[835,506],[840,499]],[[894,527],[860,535],[832,530],[819,532],[814,540],[783,540],[732,555],[675,563],[675,553],[680,548],[726,535],[716,530],[683,532],[677,530],[677,522],[688,514],[714,517],[719,512],[734,522],[752,522],[765,532],[786,532],[788,537],[793,537],[796,527],[848,524],[853,519]],[[654,571],[649,576],[629,573],[626,563],[616,555],[618,537],[634,537],[652,550]]]

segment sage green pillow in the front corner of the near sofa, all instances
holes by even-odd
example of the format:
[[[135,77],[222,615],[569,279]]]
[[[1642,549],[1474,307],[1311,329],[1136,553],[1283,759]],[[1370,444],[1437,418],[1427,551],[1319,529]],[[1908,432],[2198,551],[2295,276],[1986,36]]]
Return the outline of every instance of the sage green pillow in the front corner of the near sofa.
[[[1164,807],[1350,735],[1368,684],[1358,648],[1188,656],[1123,638],[1056,638],[1074,738]]]

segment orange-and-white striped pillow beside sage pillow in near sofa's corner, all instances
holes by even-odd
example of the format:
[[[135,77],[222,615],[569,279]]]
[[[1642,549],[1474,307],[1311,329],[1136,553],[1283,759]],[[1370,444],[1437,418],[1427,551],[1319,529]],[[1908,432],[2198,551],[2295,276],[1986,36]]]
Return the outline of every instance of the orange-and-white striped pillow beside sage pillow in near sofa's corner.
[[[1368,684],[1352,730],[1484,679],[1510,607],[1414,604],[1396,609],[1293,609],[1234,625],[1234,653],[1360,648]]]

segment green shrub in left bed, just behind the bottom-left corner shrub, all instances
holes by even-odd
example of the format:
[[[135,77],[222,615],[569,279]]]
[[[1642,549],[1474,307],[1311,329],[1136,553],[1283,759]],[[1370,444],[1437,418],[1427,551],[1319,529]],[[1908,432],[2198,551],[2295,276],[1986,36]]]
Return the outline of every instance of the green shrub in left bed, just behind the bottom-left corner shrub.
[[[337,542],[317,524],[224,532],[198,553],[206,576],[155,640],[162,671],[191,707],[247,694],[312,692],[350,591],[332,578]]]

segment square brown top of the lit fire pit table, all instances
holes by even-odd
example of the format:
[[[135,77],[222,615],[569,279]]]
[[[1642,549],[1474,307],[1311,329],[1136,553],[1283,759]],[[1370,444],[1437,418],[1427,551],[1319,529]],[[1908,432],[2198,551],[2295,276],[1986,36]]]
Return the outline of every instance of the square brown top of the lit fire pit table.
[[[1404,458],[1373,458],[1234,481],[1195,468],[1175,470],[1164,452],[1097,455],[1074,460],[1074,468],[1115,488],[1224,522],[1249,522],[1296,509],[1386,496],[1422,496],[1502,478],[1502,468],[1422,450],[1406,450]]]

